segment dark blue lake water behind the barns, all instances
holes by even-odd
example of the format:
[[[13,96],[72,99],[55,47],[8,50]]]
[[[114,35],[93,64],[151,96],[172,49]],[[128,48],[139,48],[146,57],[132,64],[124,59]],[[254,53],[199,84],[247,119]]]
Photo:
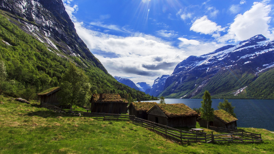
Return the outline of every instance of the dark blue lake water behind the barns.
[[[202,99],[165,99],[166,104],[184,103],[190,108],[200,108]],[[157,102],[142,101],[142,102]],[[212,108],[218,110],[217,106],[223,100],[213,99]],[[237,116],[238,127],[265,128],[274,131],[274,100],[228,100],[235,106],[234,112]]]

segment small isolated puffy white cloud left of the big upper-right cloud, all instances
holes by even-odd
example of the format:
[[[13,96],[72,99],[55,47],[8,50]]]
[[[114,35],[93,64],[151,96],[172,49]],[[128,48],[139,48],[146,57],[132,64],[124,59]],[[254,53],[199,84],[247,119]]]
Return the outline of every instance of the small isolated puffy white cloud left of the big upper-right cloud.
[[[207,19],[207,16],[204,16],[194,21],[190,30],[201,34],[213,34],[215,32],[223,31],[224,29]]]

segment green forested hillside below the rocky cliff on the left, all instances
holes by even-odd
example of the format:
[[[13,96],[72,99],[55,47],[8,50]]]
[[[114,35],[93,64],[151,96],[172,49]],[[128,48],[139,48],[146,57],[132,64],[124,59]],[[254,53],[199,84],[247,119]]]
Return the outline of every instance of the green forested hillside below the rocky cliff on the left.
[[[5,11],[0,13],[0,60],[5,63],[7,72],[6,79],[1,81],[1,92],[15,97],[34,98],[38,92],[58,86],[61,74],[72,61],[86,72],[91,92],[119,93],[126,99],[129,96],[137,100],[150,99],[144,92],[120,84],[81,56],[66,55],[46,46],[11,23],[18,21],[6,15]]]

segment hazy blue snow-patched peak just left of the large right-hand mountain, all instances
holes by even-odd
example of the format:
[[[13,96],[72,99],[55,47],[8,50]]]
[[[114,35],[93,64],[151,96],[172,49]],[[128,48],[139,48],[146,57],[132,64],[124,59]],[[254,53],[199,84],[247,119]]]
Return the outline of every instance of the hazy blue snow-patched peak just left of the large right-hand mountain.
[[[159,94],[164,90],[166,79],[170,75],[162,75],[154,80],[154,83],[151,88],[148,88],[145,93],[149,94],[150,96],[158,97]]]

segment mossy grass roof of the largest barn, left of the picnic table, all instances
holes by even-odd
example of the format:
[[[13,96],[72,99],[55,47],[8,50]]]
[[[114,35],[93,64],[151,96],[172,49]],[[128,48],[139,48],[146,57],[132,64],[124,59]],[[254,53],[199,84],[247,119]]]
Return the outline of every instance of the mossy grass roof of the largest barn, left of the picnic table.
[[[157,104],[167,117],[198,116],[197,112],[183,103],[180,104]]]

